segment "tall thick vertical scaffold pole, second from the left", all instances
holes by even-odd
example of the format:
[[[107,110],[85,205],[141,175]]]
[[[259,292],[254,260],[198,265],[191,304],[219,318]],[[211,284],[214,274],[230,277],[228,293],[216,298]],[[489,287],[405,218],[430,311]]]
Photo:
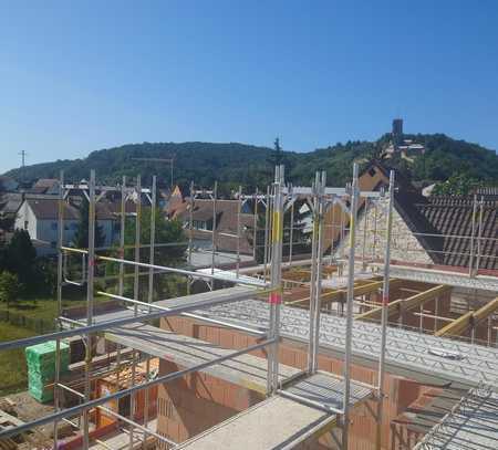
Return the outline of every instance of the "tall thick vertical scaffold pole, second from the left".
[[[86,325],[93,324],[93,283],[95,276],[95,170],[90,171],[89,184],[89,272],[86,278]],[[91,399],[92,334],[86,334],[85,347],[85,402]],[[83,411],[83,448],[89,448],[90,417]]]

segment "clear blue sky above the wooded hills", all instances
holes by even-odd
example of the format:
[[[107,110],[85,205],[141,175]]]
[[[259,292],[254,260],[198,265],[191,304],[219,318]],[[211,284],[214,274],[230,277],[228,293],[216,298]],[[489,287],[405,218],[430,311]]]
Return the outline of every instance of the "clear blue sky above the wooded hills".
[[[498,148],[498,1],[0,0],[0,172],[142,142]]]

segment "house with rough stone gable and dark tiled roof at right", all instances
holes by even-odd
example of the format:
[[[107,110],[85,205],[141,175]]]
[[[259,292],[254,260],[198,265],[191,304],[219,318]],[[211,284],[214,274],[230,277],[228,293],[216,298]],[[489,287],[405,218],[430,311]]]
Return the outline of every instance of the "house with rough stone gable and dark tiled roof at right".
[[[388,185],[388,170],[372,163],[360,176],[362,190],[380,190]],[[474,196],[424,197],[406,179],[396,178],[394,193],[392,263],[432,266],[439,270],[469,272],[470,264],[480,274],[498,274],[498,198],[481,193],[474,213]],[[349,237],[340,236],[341,214],[333,210],[325,217],[334,228],[333,253],[338,259],[347,254]],[[481,219],[479,219],[479,217]],[[474,221],[473,221],[474,218]],[[345,228],[349,220],[342,216]],[[384,261],[386,245],[386,200],[364,199],[360,202],[355,252],[365,262]],[[480,239],[478,239],[480,237]],[[330,251],[332,233],[328,234]],[[478,243],[479,242],[479,243]],[[479,257],[477,255],[479,253]],[[452,312],[465,313],[487,303],[489,292],[455,287],[452,293]]]

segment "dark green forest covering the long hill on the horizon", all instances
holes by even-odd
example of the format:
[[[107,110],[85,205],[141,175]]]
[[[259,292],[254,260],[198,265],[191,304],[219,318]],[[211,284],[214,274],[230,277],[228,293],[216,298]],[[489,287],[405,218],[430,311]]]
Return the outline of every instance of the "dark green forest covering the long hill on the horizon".
[[[425,146],[425,153],[413,161],[400,155],[384,160],[412,181],[429,184],[445,181],[455,176],[486,184],[498,184],[498,155],[490,149],[444,134],[404,135]],[[199,187],[212,186],[217,180],[224,191],[264,187],[272,179],[276,161],[286,165],[286,179],[294,185],[310,185],[315,170],[326,170],[330,186],[344,186],[351,179],[352,163],[366,165],[380,158],[391,139],[388,134],[375,142],[338,143],[309,153],[274,150],[238,143],[143,143],[128,144],[91,153],[86,158],[56,160],[13,169],[7,176],[17,180],[56,178],[64,170],[68,180],[87,179],[95,169],[101,182],[116,182],[123,175],[142,175],[148,184],[157,175],[163,187],[169,186],[170,169],[167,163],[144,158],[174,158],[174,182],[188,186],[191,180]]]

